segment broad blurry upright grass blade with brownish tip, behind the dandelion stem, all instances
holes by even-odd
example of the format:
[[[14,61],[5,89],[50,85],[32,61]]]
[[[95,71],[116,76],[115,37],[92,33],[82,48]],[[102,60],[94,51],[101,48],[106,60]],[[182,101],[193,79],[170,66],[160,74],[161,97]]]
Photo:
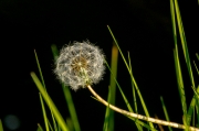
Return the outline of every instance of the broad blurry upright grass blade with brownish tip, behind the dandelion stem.
[[[116,83],[114,80],[114,77],[117,77],[117,59],[118,59],[118,50],[113,43],[112,47],[112,63],[111,63],[111,69],[113,75],[111,75],[109,78],[109,91],[108,91],[108,102],[112,105],[115,105],[115,96],[116,96]],[[109,108],[106,108],[105,113],[105,122],[104,125],[106,125],[107,131],[114,131],[114,111],[109,110]],[[107,119],[108,118],[108,119]]]

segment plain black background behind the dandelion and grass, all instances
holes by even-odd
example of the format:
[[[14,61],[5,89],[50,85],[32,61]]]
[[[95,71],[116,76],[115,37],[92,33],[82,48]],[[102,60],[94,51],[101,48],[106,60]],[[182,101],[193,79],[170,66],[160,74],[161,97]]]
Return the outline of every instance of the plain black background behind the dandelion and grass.
[[[191,59],[198,52],[197,0],[180,0],[180,11]],[[69,117],[62,88],[53,74],[51,45],[60,50],[73,41],[90,40],[103,48],[111,61],[113,39],[109,25],[119,46],[127,56],[130,52],[135,79],[144,96],[150,116],[165,119],[159,97],[163,96],[171,121],[181,122],[181,105],[176,83],[172,56],[174,41],[169,1],[158,0],[1,0],[0,1],[0,54],[1,87],[0,119],[6,131],[6,118],[15,116],[20,121],[18,131],[35,131],[43,124],[39,91],[30,72],[39,75],[33,50],[36,51],[46,88],[63,117]],[[181,50],[181,46],[179,46]],[[188,103],[192,96],[184,56],[182,69]],[[133,102],[130,80],[119,56],[118,81]],[[198,63],[198,62],[197,62]],[[196,73],[196,69],[193,68]],[[196,77],[197,79],[198,77]],[[107,97],[109,72],[104,80],[94,86],[103,98]],[[82,131],[101,131],[105,107],[91,98],[87,89],[71,91]],[[119,91],[116,106],[127,109]],[[133,106],[133,105],[132,105]],[[139,105],[139,113],[144,114]],[[135,124],[128,118],[115,113],[115,131],[128,131]],[[167,130],[167,129],[166,129]]]

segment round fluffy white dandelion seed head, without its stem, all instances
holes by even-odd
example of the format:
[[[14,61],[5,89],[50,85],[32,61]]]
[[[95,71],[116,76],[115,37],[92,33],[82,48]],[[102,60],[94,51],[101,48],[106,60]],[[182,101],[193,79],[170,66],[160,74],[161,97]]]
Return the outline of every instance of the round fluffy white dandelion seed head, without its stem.
[[[55,65],[59,79],[74,90],[97,84],[105,69],[103,52],[90,41],[63,47]]]

